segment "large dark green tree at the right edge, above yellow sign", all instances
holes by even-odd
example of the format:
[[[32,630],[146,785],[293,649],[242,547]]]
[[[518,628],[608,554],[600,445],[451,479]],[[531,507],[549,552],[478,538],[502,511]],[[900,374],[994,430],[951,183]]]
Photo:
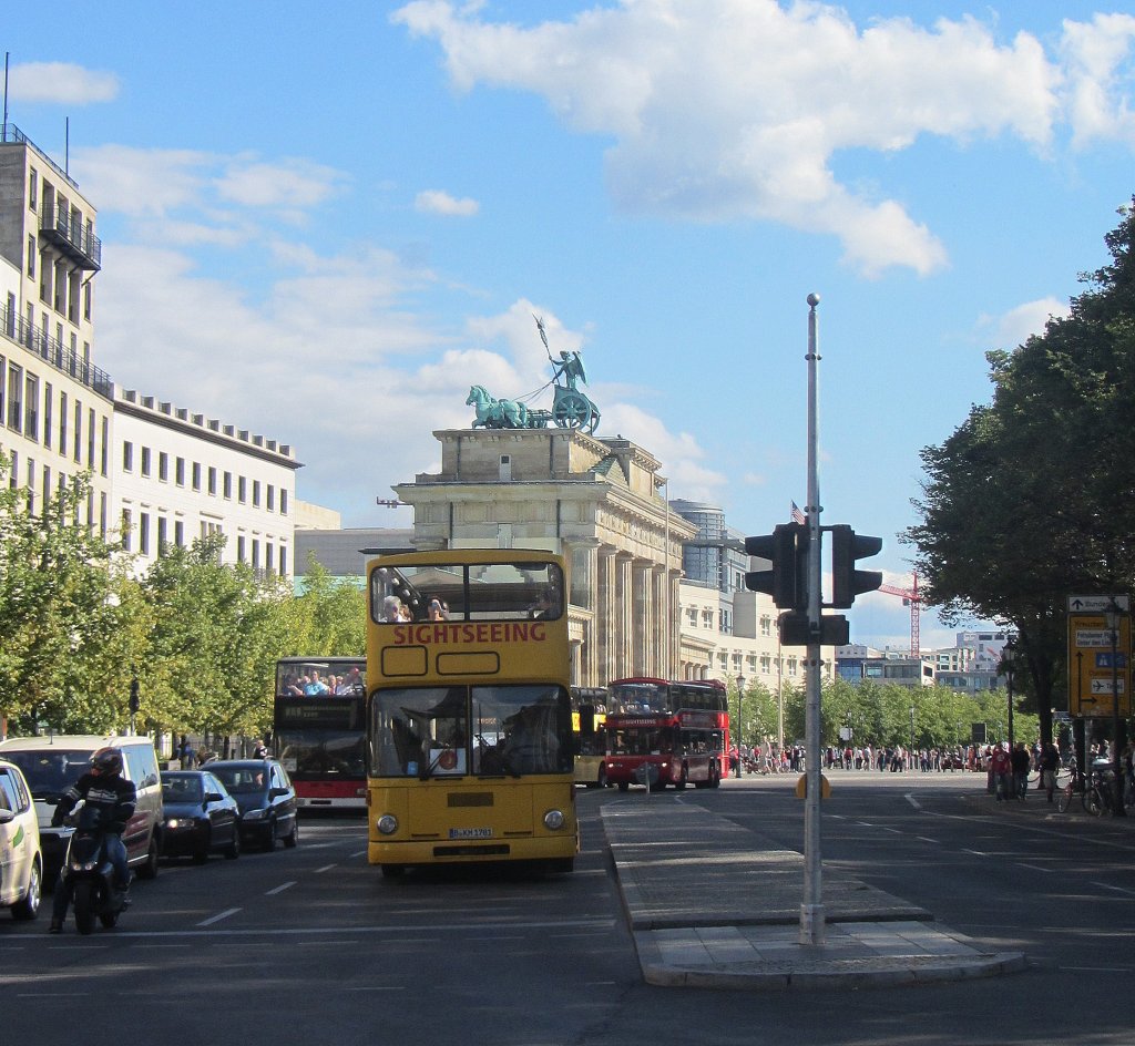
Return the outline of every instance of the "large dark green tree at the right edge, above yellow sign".
[[[1063,703],[1068,594],[1135,581],[1135,212],[1120,216],[1111,263],[1081,277],[1070,314],[987,354],[993,400],[922,452],[922,522],[902,535],[944,622],[1017,631],[1044,740]]]

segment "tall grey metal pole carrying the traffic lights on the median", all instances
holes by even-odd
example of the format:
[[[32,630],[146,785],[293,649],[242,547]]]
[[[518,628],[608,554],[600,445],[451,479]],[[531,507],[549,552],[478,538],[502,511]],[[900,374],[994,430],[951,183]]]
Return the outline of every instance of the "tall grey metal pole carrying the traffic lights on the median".
[[[819,860],[819,630],[822,593],[819,548],[819,345],[816,306],[808,295],[808,661],[805,719],[804,902],[800,904],[800,944],[824,943],[824,902]]]

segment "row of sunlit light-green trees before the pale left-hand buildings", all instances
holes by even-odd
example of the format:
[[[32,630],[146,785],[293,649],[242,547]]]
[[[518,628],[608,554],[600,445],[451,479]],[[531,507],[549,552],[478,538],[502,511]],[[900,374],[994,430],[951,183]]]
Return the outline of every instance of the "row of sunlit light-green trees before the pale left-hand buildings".
[[[145,576],[120,543],[77,522],[89,476],[28,509],[0,455],[0,716],[12,733],[121,731],[263,735],[275,663],[364,652],[356,585],[314,560],[303,596],[246,564],[222,565],[225,538],[168,546]]]

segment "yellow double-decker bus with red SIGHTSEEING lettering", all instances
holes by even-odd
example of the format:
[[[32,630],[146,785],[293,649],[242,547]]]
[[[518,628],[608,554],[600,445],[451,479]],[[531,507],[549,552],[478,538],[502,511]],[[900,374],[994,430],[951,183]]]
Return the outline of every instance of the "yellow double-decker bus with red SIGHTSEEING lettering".
[[[563,560],[521,549],[368,566],[368,860],[386,876],[528,861],[571,871]]]

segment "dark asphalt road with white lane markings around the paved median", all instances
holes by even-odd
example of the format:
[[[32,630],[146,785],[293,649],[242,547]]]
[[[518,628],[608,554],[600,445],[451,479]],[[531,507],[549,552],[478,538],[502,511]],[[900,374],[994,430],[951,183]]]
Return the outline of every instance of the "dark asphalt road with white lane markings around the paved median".
[[[45,910],[31,925],[0,916],[3,1043],[1135,1043],[1135,826],[999,809],[960,774],[832,782],[825,867],[1025,952],[1028,970],[760,996],[642,984],[599,804],[697,802],[800,849],[792,781],[747,777],[712,792],[581,791],[585,852],[566,877],[384,880],[361,820],[308,819],[295,850],[163,866],[115,930],[79,937],[69,923],[54,937]]]

